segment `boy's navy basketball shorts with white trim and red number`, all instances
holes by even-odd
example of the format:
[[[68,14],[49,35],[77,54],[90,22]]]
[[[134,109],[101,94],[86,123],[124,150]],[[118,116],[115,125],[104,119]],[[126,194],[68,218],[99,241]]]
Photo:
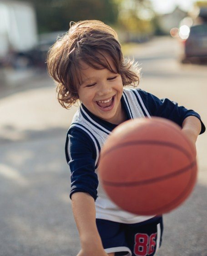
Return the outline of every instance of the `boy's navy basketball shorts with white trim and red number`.
[[[162,217],[154,217],[136,224],[96,219],[106,253],[115,256],[153,256],[162,243]]]

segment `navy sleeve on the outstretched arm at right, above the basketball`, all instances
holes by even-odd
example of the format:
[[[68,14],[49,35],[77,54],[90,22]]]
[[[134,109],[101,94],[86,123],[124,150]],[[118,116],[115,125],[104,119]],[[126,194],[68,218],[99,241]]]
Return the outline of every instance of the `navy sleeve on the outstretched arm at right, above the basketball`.
[[[177,123],[181,127],[184,119],[190,115],[193,115],[201,121],[202,128],[200,134],[206,130],[200,115],[198,115],[194,110],[187,110],[183,106],[178,106],[176,102],[171,101],[170,99],[159,99],[155,95],[147,93],[143,90],[139,90],[139,93],[141,94],[141,98],[146,104],[150,115],[167,118]]]

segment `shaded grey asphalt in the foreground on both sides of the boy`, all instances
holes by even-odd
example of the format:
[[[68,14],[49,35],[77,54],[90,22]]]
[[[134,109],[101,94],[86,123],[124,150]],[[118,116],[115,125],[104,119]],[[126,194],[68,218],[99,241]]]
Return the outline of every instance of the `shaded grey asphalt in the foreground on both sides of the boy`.
[[[79,251],[63,130],[26,131],[25,141],[0,148],[1,256],[75,256]],[[180,208],[164,216],[159,256],[206,255],[206,195],[207,188],[197,184]]]

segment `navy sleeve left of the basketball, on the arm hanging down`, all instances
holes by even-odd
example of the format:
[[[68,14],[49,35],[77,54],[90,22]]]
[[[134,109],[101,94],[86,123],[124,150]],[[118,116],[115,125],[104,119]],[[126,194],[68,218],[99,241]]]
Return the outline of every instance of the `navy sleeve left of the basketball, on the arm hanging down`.
[[[71,129],[66,139],[66,159],[71,169],[71,193],[89,193],[97,197],[96,156],[90,139],[79,129]]]

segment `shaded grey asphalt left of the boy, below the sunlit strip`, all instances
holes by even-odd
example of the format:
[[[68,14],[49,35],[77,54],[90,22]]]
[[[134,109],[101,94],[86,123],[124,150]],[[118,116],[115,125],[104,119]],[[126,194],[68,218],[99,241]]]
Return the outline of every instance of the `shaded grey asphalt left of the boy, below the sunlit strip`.
[[[76,255],[63,130],[26,131],[0,147],[0,256]]]

